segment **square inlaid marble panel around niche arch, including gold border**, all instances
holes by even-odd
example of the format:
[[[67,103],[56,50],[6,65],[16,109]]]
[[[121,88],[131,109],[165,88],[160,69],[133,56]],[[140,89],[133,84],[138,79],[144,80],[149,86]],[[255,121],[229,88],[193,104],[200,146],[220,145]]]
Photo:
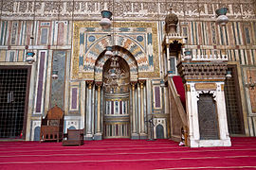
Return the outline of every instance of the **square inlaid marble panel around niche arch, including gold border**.
[[[137,27],[145,27],[145,29],[137,31]],[[107,35],[113,30],[102,31],[98,22],[74,23],[72,78],[95,79],[97,59],[105,51],[106,46],[113,44],[126,49],[136,59],[138,77],[159,76],[156,23],[115,23],[114,29],[115,36],[110,39]],[[137,35],[142,36],[143,39],[139,38],[137,41]],[[127,62],[129,63],[129,60]],[[133,70],[133,67],[130,69]]]

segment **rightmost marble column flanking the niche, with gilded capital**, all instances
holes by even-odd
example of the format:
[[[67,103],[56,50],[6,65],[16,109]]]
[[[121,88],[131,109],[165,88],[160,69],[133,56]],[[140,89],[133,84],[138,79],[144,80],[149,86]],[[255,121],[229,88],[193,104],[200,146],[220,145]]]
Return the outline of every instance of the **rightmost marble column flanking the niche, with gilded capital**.
[[[140,139],[146,139],[147,135],[145,133],[145,120],[144,120],[144,80],[139,81],[140,85],[140,131],[139,136]]]

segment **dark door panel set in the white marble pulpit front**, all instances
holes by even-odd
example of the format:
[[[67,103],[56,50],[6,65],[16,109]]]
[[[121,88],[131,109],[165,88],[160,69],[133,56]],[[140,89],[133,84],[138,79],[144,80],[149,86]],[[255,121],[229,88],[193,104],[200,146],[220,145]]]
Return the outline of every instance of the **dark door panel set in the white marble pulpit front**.
[[[219,139],[216,104],[210,93],[202,93],[198,101],[200,140]]]

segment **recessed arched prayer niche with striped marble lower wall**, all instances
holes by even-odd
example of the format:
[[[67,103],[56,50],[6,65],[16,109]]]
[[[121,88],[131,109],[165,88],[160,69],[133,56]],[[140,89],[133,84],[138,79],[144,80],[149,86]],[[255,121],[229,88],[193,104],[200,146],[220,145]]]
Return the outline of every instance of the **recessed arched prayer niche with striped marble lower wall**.
[[[130,68],[116,55],[103,66],[103,138],[130,137]]]

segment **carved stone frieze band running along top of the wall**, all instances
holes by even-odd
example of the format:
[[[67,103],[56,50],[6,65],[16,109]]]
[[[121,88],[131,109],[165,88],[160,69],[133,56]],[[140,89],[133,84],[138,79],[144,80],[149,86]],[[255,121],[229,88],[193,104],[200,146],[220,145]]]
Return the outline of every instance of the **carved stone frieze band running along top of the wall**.
[[[35,5],[34,5],[35,2]],[[239,2],[236,0],[222,4],[218,0],[197,1],[185,0],[172,2],[162,1],[117,1],[113,6],[113,2],[89,1],[89,0],[5,0],[2,7],[2,20],[94,20],[101,19],[101,10],[112,10],[117,8],[113,15],[115,20],[123,20],[123,18],[131,20],[162,20],[168,14],[172,7],[172,12],[179,17],[179,20],[200,18],[214,20],[216,18],[215,10],[221,7],[229,8],[229,20],[256,19],[255,9],[252,1],[244,0]],[[199,2],[199,3],[198,3]],[[59,4],[61,3],[61,4]],[[34,10],[35,8],[35,10]],[[73,12],[74,11],[74,12]]]

